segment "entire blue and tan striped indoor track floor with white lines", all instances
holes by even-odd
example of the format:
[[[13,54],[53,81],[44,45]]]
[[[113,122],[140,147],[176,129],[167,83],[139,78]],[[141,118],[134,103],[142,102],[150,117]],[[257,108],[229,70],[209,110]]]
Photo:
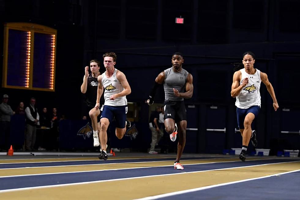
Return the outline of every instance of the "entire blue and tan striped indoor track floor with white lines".
[[[0,199],[300,199],[300,157],[1,156]]]

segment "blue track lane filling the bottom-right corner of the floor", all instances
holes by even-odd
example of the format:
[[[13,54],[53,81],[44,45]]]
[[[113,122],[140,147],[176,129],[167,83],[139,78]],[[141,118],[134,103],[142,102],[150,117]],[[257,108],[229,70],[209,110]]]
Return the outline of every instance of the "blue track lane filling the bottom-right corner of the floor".
[[[255,199],[255,200],[299,200],[300,199],[300,171],[272,176],[264,179],[235,183],[214,187],[206,190],[189,192],[164,198],[174,199]]]

